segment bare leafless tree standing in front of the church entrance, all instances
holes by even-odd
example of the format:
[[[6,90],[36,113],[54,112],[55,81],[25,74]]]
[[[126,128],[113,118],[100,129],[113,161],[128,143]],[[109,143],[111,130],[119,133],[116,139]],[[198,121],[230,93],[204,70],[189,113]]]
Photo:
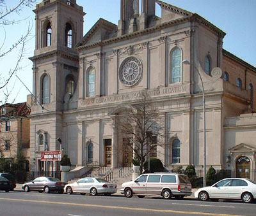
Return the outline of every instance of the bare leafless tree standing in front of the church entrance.
[[[147,91],[140,92],[138,102],[131,104],[123,117],[118,118],[118,129],[126,136],[124,145],[133,152],[133,163],[140,164],[140,173],[143,171],[143,162],[156,145],[161,145],[163,124],[159,117],[156,104],[152,103]],[[150,145],[157,136],[156,145]]]

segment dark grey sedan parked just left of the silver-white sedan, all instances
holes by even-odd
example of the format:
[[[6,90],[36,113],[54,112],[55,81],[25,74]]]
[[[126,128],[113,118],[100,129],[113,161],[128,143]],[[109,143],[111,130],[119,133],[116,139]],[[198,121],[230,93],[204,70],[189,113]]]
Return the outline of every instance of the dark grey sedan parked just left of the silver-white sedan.
[[[63,193],[63,188],[66,185],[66,182],[61,182],[58,178],[53,177],[38,177],[35,178],[32,182],[27,182],[22,185],[22,189],[25,192],[29,191],[38,191],[49,193],[52,191],[57,191],[58,193]]]

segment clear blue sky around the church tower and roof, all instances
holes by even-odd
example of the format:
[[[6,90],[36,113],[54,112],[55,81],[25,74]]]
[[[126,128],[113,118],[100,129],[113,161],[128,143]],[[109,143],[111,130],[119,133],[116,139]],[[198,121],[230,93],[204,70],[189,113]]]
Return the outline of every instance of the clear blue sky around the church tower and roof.
[[[19,0],[7,0],[8,7],[12,7]],[[38,1],[38,3],[41,2]],[[223,48],[236,55],[243,61],[256,67],[256,0],[164,0],[201,17],[216,25],[226,33],[223,40]],[[118,24],[120,18],[120,0],[77,0],[77,4],[83,6],[84,34],[99,20],[104,18],[113,24]],[[1,8],[0,8],[1,9]],[[26,44],[26,52],[20,64],[21,69],[17,76],[32,92],[33,71],[32,62],[28,57],[33,56],[35,50],[35,13],[34,8],[23,8],[19,15],[12,14],[9,19],[19,20],[18,24],[0,25],[0,53],[8,50],[21,34],[26,34],[28,26],[32,26],[31,38]],[[161,17],[160,7],[156,7],[156,15]],[[4,40],[4,38],[6,38]],[[0,78],[7,77],[17,61],[19,50],[14,50],[6,57],[0,58]],[[26,101],[29,90],[13,76],[8,90],[12,94],[8,97],[8,103],[22,103]],[[3,90],[0,90],[0,104],[3,99]]]

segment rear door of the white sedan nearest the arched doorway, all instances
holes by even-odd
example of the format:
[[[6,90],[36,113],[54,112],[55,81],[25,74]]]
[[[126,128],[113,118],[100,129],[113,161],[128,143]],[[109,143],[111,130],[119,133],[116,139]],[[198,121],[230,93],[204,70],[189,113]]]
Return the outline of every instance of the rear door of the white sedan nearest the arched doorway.
[[[248,187],[247,182],[241,179],[234,179],[228,189],[230,199],[241,199],[241,194],[246,191]]]

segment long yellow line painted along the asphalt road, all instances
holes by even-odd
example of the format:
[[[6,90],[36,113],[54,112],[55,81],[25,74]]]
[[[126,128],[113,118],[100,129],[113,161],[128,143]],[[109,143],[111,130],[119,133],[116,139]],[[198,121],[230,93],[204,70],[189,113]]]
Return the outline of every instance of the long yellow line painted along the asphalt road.
[[[159,209],[150,209],[150,208],[131,208],[131,207],[122,207],[122,206],[104,206],[104,205],[91,205],[91,204],[81,204],[81,203],[62,203],[62,202],[51,202],[51,201],[36,201],[30,199],[8,199],[0,198],[0,200],[8,201],[20,201],[27,203],[47,203],[55,205],[70,205],[70,206],[84,206],[84,207],[95,207],[95,208],[111,208],[111,209],[120,209],[120,210],[131,210],[131,211],[141,211],[141,212],[162,212],[162,213],[180,213],[186,215],[211,215],[211,216],[243,216],[243,215],[227,215],[221,213],[208,213],[208,212],[184,212],[176,210],[159,210]]]

